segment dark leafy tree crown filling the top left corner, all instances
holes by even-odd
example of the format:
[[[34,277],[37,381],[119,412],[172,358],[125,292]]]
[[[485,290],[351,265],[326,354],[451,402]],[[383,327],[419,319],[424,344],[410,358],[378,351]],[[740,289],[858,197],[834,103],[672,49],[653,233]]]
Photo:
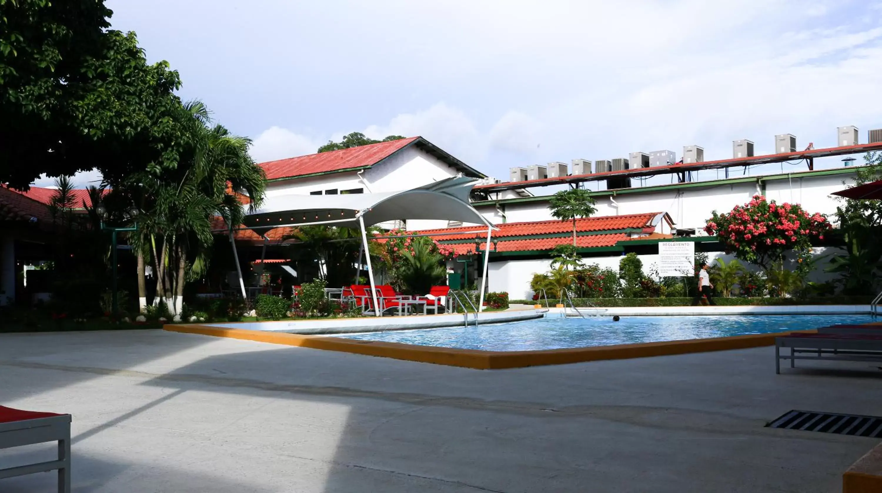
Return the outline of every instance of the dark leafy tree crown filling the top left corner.
[[[0,0],[0,183],[176,166],[180,86],[102,0]]]

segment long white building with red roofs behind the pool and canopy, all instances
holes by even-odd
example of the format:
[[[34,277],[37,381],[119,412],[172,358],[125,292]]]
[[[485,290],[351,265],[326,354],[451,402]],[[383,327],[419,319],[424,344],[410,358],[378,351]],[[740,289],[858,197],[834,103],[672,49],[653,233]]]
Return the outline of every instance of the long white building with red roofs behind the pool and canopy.
[[[493,183],[420,137],[265,162],[260,166],[269,179],[268,196],[405,190],[460,173]],[[695,241],[696,250],[706,251],[710,258],[726,257],[721,245],[703,230],[714,211],[728,212],[759,194],[779,203],[802,204],[811,213],[832,215],[839,202],[830,194],[845,188],[843,183],[853,183],[855,173],[855,167],[833,168],[596,191],[592,195],[597,213],[590,220],[579,220],[577,245],[588,263],[611,268],[617,268],[625,253],[634,251],[644,260],[645,269],[651,269],[657,258],[657,243],[674,236],[691,237],[686,241]],[[481,194],[476,193],[475,197]],[[549,270],[550,250],[572,242],[572,226],[552,218],[549,196],[533,197],[525,190],[508,190],[491,197],[473,202],[478,211],[500,228],[494,234],[496,241],[490,252],[489,288],[508,292],[512,299],[527,298],[533,295],[529,291],[533,273]],[[475,228],[457,228],[459,224],[437,220],[410,220],[384,226],[438,234],[435,239],[453,245],[464,255],[461,259],[473,258],[471,262],[456,263],[455,268],[460,272],[468,270],[467,280],[476,278],[475,251],[482,249],[482,235],[475,233]],[[460,231],[467,234],[450,235]]]

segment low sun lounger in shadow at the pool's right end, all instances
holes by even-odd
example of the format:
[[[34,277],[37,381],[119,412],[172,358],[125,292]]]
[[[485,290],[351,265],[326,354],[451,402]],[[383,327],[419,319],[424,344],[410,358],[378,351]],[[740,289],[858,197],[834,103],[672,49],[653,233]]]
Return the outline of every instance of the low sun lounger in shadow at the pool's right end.
[[[796,360],[882,362],[882,332],[877,333],[791,333],[777,337],[775,373],[781,373],[781,360],[790,360],[790,368],[796,368]],[[790,354],[781,355],[781,348],[788,347]]]

